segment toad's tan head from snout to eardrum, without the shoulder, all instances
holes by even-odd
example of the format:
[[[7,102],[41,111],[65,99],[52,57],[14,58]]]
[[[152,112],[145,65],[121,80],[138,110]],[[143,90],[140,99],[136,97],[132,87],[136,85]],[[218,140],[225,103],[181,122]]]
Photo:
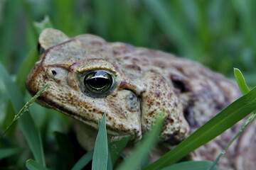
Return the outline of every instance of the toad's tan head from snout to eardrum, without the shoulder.
[[[37,102],[97,128],[106,115],[112,135],[140,136],[139,98],[110,58],[105,40],[95,35],[68,38],[59,30],[43,30],[41,56],[28,75],[32,95],[49,82]]]

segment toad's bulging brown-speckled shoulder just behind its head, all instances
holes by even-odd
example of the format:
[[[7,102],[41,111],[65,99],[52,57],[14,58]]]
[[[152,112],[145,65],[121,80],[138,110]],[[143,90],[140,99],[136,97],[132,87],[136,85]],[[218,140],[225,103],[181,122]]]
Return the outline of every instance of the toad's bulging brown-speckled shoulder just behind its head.
[[[174,94],[174,86],[164,77],[154,72],[144,74],[142,90],[142,131],[151,129],[159,112],[164,113],[164,128],[161,141],[176,145],[186,138],[189,125],[183,116],[183,108]]]

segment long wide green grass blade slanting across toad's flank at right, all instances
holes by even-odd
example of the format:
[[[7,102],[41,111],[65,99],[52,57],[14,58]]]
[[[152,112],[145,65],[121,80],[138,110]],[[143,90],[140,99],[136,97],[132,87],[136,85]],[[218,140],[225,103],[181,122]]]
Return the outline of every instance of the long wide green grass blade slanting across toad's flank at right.
[[[147,166],[144,170],[161,169],[165,166],[174,164],[179,159],[185,157],[194,149],[206,144],[222,132],[235,125],[239,120],[245,118],[256,109],[256,88],[249,91],[237,101],[233,102],[221,111],[214,118],[210,119],[205,125],[193,132],[186,140],[177,147],[165,154],[153,164]]]

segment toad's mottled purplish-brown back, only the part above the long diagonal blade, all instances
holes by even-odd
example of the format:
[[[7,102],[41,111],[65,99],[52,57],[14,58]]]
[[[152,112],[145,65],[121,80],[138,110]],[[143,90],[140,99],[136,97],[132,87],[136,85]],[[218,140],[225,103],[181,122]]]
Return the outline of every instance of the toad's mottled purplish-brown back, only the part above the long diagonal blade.
[[[200,127],[241,96],[234,81],[191,60],[120,42],[108,45],[130,79],[134,73],[154,72],[169,81],[191,127]]]

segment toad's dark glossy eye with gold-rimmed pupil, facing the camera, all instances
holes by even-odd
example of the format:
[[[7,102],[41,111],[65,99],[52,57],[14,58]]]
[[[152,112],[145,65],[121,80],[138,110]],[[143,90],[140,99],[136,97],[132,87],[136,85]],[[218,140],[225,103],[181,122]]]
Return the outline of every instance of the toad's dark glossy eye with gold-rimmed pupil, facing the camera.
[[[92,71],[85,74],[83,84],[85,85],[85,92],[90,96],[104,97],[112,91],[114,79],[111,74],[105,71]]]

